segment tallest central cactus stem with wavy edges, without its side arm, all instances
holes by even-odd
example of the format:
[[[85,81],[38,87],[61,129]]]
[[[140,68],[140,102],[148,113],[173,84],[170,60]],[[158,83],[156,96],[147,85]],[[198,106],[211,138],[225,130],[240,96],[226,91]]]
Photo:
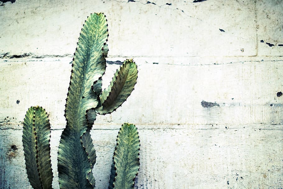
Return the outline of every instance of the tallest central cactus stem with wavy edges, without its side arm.
[[[103,47],[108,37],[104,15],[91,14],[81,30],[72,64],[70,86],[66,99],[66,128],[58,149],[58,176],[61,189],[93,189],[92,168],[95,150],[90,129],[95,120],[90,111],[97,106],[97,95],[92,90],[93,81],[105,72]],[[98,90],[98,89],[97,89]],[[98,90],[99,91],[99,90]]]

